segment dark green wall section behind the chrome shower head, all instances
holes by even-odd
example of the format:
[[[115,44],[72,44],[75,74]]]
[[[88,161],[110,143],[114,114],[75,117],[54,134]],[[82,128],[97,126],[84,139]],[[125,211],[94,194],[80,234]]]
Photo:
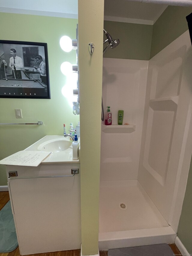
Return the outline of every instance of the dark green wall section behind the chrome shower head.
[[[114,49],[109,49],[104,54],[105,58],[117,59],[140,59],[149,60],[152,25],[124,23],[104,20],[104,29],[116,39],[119,38],[121,43]],[[106,40],[104,34],[104,40]],[[107,43],[104,44],[104,48]]]

